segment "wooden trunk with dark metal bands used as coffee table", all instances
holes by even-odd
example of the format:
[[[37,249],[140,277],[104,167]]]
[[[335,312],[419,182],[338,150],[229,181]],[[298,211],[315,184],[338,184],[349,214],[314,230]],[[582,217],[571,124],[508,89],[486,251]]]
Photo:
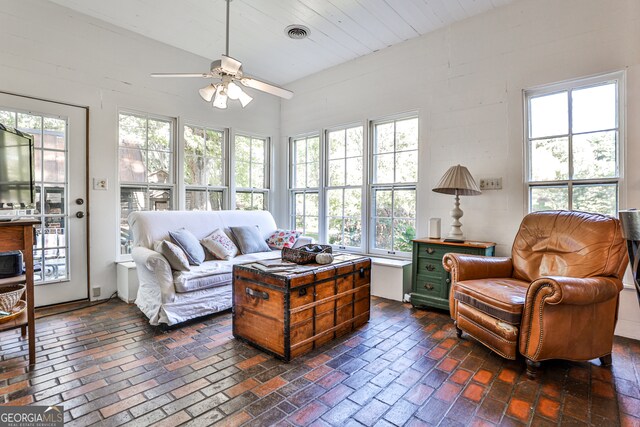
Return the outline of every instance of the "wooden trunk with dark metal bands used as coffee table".
[[[289,361],[369,321],[371,260],[269,273],[233,267],[233,335]]]

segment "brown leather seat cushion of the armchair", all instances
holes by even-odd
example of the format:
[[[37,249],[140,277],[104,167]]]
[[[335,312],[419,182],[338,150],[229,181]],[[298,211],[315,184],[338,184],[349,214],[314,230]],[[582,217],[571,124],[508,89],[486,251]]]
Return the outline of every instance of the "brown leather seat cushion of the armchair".
[[[456,300],[511,325],[519,325],[529,283],[511,278],[464,280],[453,286]]]

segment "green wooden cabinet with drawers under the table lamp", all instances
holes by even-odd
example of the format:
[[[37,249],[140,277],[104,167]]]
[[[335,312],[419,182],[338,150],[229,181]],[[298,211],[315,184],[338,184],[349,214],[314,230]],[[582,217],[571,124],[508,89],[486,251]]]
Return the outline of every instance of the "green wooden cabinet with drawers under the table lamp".
[[[449,310],[451,275],[442,266],[448,252],[471,255],[495,255],[495,243],[451,243],[441,239],[413,241],[413,275],[411,304],[414,307],[436,307]]]

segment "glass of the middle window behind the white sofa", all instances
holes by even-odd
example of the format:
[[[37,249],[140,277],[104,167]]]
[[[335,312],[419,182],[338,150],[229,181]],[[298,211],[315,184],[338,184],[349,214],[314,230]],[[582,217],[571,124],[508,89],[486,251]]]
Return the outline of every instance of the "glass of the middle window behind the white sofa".
[[[184,126],[186,210],[224,209],[226,178],[225,132]]]

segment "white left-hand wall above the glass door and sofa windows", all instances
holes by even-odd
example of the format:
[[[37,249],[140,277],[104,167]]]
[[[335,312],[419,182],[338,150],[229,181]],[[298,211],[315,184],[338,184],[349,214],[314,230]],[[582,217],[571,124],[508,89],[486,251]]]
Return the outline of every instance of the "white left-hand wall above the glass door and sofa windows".
[[[120,108],[280,137],[277,98],[255,94],[244,110],[214,110],[198,95],[205,80],[149,78],[151,72],[207,70],[209,60],[48,1],[0,0],[0,40],[0,90],[89,107],[90,178],[109,180],[108,191],[90,190],[88,218],[90,280],[102,288],[101,298],[116,290]]]

